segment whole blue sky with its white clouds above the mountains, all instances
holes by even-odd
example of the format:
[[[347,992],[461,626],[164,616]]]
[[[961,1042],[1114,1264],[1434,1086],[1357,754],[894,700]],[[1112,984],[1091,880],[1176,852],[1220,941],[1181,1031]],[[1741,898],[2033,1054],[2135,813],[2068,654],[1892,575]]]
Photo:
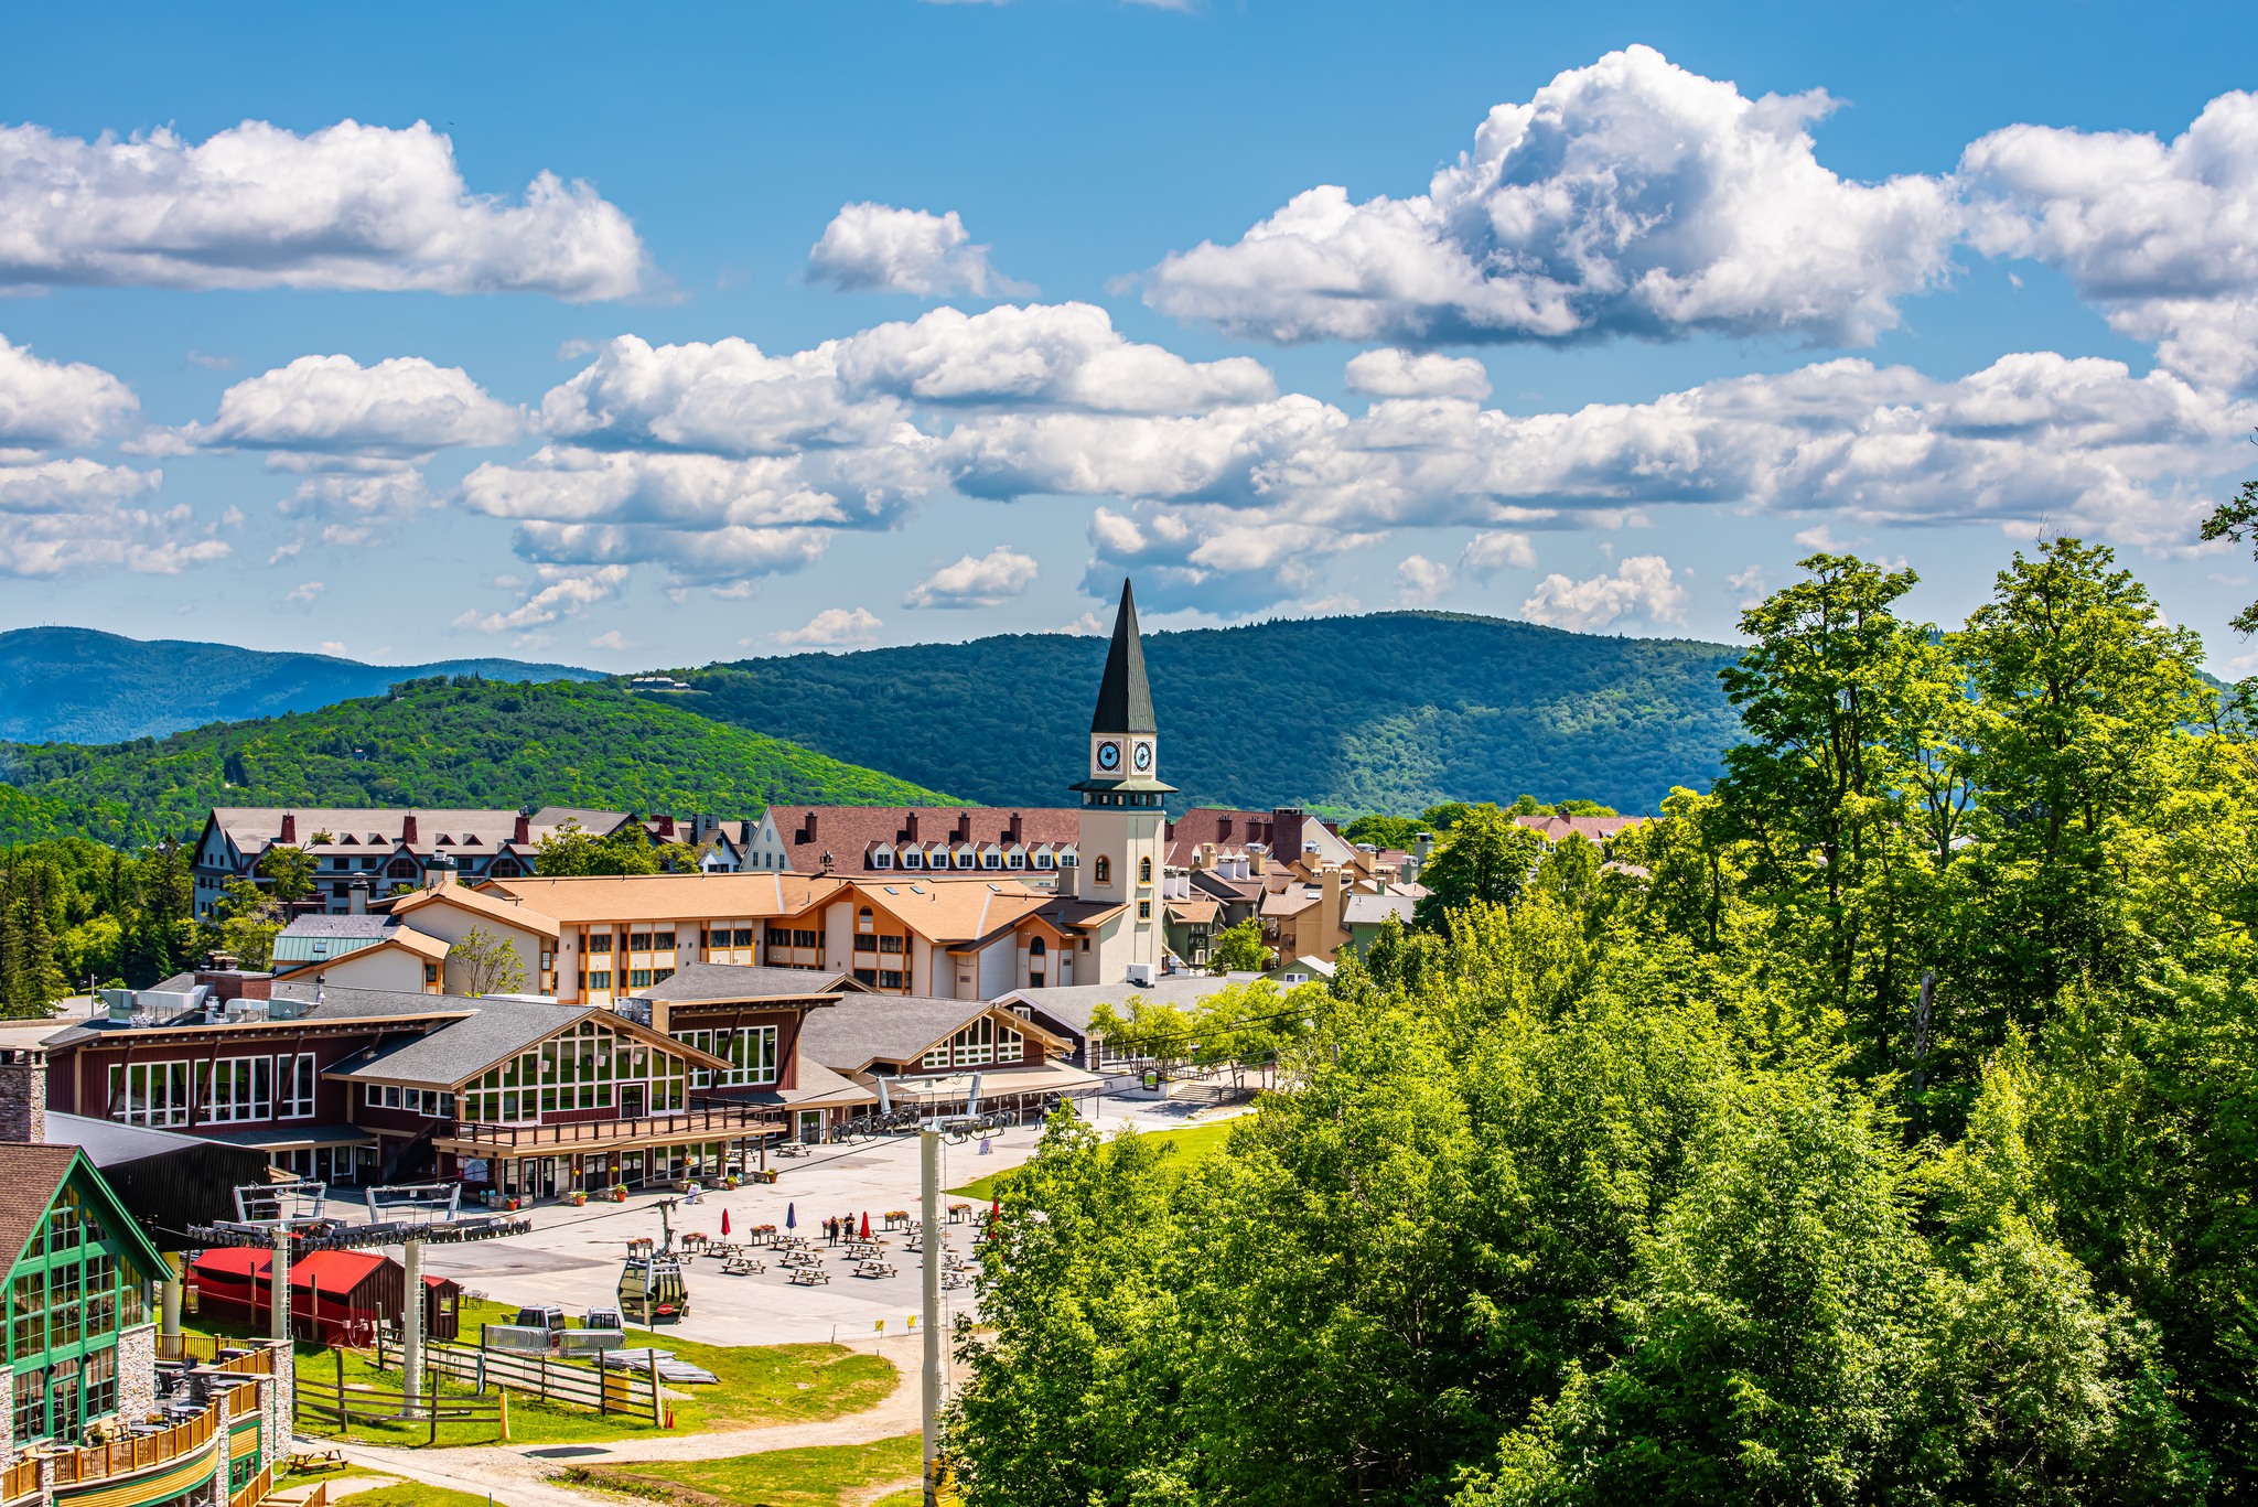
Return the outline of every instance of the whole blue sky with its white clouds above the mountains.
[[[43,7],[0,628],[598,669],[1434,608],[1958,624],[2258,477],[2224,5]]]

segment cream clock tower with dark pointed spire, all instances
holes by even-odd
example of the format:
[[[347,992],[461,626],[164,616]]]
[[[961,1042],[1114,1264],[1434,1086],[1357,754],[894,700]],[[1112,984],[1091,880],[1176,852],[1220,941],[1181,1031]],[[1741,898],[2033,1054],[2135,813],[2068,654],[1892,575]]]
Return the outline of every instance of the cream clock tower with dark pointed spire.
[[[1073,786],[1082,793],[1082,834],[1070,892],[1075,899],[1122,906],[1120,917],[1102,926],[1093,983],[1161,976],[1161,831],[1167,822],[1161,800],[1176,786],[1161,784],[1158,743],[1152,687],[1145,685],[1145,646],[1136,630],[1136,596],[1122,581],[1113,646],[1106,651],[1106,676],[1091,718],[1088,777]],[[1079,969],[1075,981],[1084,983]]]

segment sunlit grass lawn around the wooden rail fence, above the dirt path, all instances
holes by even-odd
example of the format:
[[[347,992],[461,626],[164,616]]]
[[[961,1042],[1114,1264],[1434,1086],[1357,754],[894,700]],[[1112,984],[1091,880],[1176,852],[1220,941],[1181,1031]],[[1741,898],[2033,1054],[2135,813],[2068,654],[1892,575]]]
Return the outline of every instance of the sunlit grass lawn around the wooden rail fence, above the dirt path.
[[[463,1299],[463,1342],[479,1342],[479,1324],[506,1324],[517,1315],[506,1304]],[[574,1322],[578,1326],[578,1322]],[[194,1329],[183,1324],[183,1329]],[[194,1333],[212,1333],[201,1329]],[[233,1326],[219,1333],[239,1335]],[[714,1387],[673,1387],[671,1399],[677,1432],[700,1432],[709,1428],[754,1428],[761,1423],[808,1423],[833,1419],[842,1412],[876,1408],[901,1380],[894,1365],[881,1356],[865,1356],[844,1344],[759,1344],[723,1347],[695,1344],[673,1329],[630,1329],[628,1344],[655,1344],[673,1351],[691,1365],[702,1365],[720,1378]],[[551,1365],[587,1362],[555,1360]],[[345,1387],[400,1387],[400,1371],[377,1371],[361,1351],[343,1351]],[[327,1347],[298,1347],[300,1387],[318,1396],[336,1385],[336,1358]],[[467,1383],[440,1378],[443,1396],[470,1396]],[[592,1408],[569,1403],[540,1403],[522,1392],[510,1392],[510,1444],[580,1444],[589,1439],[623,1439],[648,1435],[650,1417],[598,1414]],[[352,1439],[368,1444],[425,1444],[429,1423],[355,1423]],[[492,1423],[440,1423],[440,1444],[499,1444]]]

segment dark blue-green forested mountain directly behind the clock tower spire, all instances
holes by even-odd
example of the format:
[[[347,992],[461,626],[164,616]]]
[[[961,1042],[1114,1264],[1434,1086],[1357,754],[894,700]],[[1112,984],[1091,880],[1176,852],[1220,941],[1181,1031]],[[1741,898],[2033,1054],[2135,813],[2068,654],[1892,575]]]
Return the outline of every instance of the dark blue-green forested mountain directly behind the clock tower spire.
[[[675,705],[994,804],[1082,777],[1106,644],[971,644],[675,671]],[[1707,786],[1739,718],[1736,651],[1441,612],[1251,624],[1145,639],[1163,777],[1181,804],[1418,811],[1581,795],[1651,811]]]

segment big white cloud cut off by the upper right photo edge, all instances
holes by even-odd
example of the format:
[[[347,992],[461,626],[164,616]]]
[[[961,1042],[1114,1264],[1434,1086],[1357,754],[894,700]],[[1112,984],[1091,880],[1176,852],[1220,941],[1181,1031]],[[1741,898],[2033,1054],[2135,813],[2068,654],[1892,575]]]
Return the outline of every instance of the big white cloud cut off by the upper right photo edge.
[[[2258,382],[2258,95],[2220,95],[2170,145],[2007,127],[1962,154],[1960,176],[1980,251],[2059,267],[2190,380]]]

